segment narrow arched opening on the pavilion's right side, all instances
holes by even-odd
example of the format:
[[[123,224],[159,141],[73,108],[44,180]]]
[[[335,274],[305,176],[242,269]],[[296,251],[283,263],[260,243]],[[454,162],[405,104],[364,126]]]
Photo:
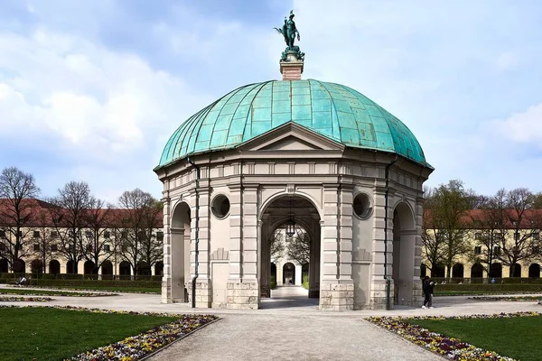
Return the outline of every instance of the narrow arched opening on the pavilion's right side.
[[[405,202],[393,212],[393,264],[394,303],[412,304],[415,281],[416,224],[414,214]],[[419,280],[419,275],[416,277]]]

